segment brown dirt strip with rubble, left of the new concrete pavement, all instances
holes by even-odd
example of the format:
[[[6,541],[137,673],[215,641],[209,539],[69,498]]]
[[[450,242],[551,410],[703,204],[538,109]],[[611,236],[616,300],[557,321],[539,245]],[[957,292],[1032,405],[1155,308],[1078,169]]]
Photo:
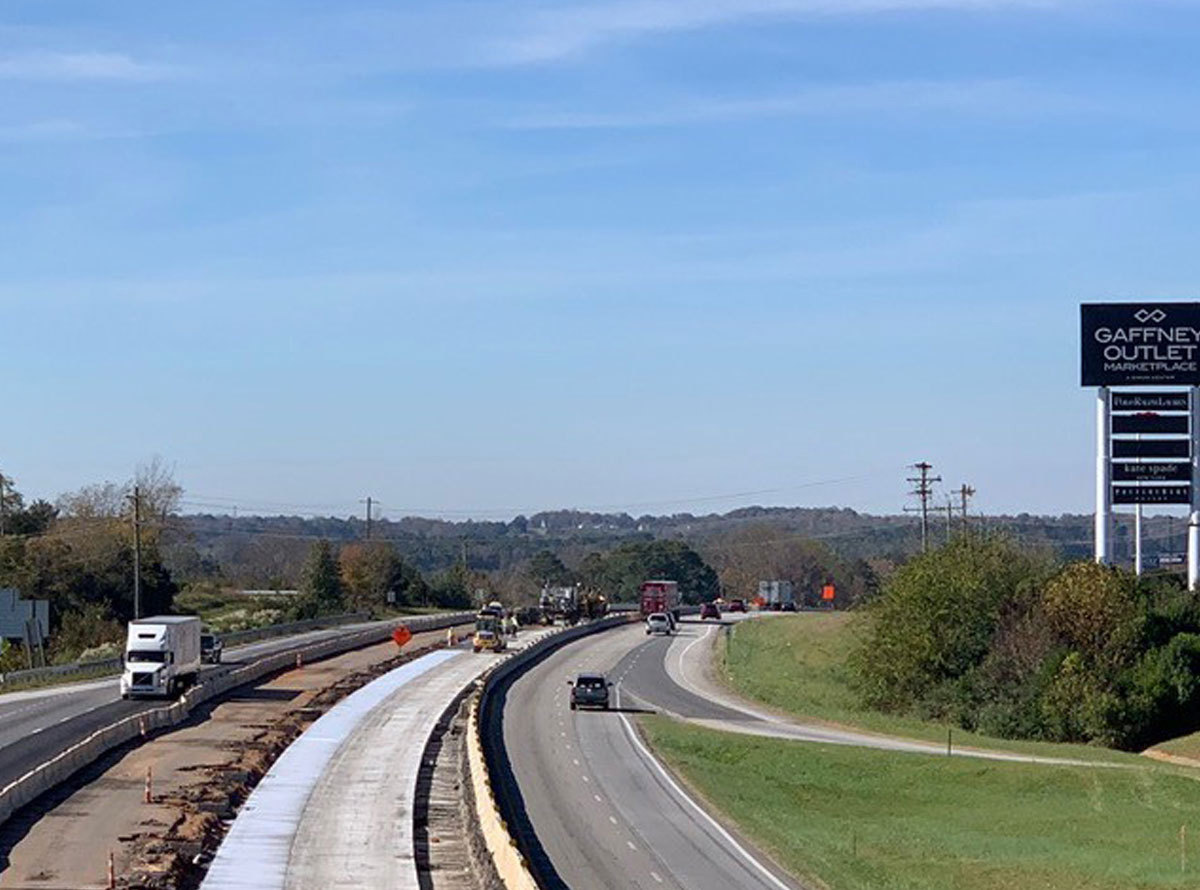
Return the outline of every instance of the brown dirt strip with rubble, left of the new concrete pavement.
[[[445,631],[430,631],[401,655],[389,642],[311,662],[113,752],[4,826],[0,890],[102,890],[109,856],[116,886],[198,886],[238,807],[300,733],[350,692],[444,645]]]

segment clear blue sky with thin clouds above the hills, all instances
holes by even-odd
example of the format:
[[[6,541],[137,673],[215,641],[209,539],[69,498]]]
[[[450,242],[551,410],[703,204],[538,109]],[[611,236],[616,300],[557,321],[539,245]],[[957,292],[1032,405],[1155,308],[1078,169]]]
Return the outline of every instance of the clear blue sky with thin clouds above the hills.
[[[194,509],[1090,510],[1195,2],[7,2],[0,471]],[[298,505],[294,509],[292,505]]]

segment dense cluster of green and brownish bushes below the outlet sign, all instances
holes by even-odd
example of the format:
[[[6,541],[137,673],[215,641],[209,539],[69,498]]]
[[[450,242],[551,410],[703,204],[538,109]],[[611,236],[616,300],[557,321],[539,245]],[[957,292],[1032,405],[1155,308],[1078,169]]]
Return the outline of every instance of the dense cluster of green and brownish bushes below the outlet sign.
[[[1200,728],[1200,600],[1177,576],[962,535],[863,612],[863,700],[1002,738],[1140,750]]]

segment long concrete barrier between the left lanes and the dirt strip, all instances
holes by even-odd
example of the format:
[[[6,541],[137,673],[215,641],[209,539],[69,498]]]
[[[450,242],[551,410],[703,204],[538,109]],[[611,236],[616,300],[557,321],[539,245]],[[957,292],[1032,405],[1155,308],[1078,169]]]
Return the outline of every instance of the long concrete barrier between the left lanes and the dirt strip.
[[[35,766],[20,778],[0,788],[0,825],[20,807],[61,782],[65,782],[101,754],[132,741],[139,735],[146,736],[158,729],[178,726],[187,720],[187,716],[197,705],[222,696],[238,686],[244,686],[247,682],[253,682],[254,680],[294,666],[296,655],[304,661],[328,659],[352,649],[382,643],[391,636],[392,630],[402,624],[408,625],[409,630],[419,633],[451,627],[456,624],[472,621],[473,619],[474,613],[472,612],[396,619],[378,627],[355,631],[354,633],[332,639],[323,639],[282,653],[275,653],[250,665],[216,674],[212,679],[205,680],[185,692],[178,702],[164,704],[161,708],[152,708],[110,723]]]

